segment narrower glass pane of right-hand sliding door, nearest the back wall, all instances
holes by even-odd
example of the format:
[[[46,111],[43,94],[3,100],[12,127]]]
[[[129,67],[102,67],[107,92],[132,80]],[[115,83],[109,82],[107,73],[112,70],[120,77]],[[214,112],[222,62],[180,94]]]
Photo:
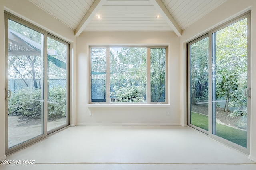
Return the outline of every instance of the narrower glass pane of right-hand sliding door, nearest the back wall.
[[[190,44],[190,124],[208,131],[209,38]]]

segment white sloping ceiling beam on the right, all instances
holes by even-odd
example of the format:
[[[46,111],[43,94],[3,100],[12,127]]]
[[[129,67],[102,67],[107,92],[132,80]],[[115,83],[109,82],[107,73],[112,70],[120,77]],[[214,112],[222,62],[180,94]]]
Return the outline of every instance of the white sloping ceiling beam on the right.
[[[161,16],[170,25],[170,27],[176,33],[176,35],[181,37],[182,30],[180,29],[180,27],[178,26],[178,24],[176,23],[176,21],[174,20],[174,18],[170,14],[170,12],[167,10],[167,8],[163,4],[163,2],[161,0],[150,0],[150,2],[156,8],[156,10],[158,10],[158,12],[160,12]]]

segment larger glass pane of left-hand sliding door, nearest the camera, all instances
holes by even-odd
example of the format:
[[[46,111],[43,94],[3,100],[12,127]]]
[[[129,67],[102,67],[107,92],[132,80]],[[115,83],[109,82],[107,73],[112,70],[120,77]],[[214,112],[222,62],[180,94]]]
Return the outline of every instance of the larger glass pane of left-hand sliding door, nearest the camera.
[[[44,134],[44,35],[8,20],[8,149]]]

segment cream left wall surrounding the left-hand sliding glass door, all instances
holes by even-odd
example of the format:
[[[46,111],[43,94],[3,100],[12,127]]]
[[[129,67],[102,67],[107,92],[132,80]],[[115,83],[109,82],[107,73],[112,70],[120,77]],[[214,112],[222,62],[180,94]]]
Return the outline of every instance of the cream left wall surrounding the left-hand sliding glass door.
[[[68,26],[64,25],[62,22],[58,21],[56,18],[50,16],[48,13],[41,10],[39,7],[35,6],[28,0],[0,0],[0,160],[5,158],[5,145],[4,145],[4,135],[5,135],[5,109],[4,109],[4,10],[26,20],[34,25],[45,29],[49,33],[52,33],[65,41],[71,43],[71,79],[72,79],[72,94],[71,102],[75,103],[75,70],[73,69],[76,64],[76,54],[75,45],[76,37],[74,36],[74,30],[70,29]],[[60,29],[61,28],[61,29]],[[73,105],[75,106],[75,105]],[[71,110],[71,124],[75,125],[75,107]]]

